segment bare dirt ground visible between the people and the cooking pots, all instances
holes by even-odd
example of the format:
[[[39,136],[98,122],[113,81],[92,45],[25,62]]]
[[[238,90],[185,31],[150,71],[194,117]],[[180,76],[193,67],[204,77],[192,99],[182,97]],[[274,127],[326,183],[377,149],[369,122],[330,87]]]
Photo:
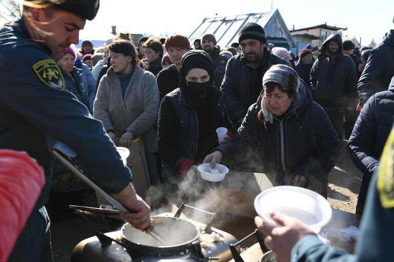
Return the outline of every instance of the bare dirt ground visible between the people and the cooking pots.
[[[344,144],[345,145],[345,144]],[[351,162],[344,147],[336,167],[329,173],[328,201],[336,209],[354,213],[357,194],[361,185],[362,173]],[[84,199],[86,206],[96,206],[95,197],[90,194]],[[103,232],[116,230],[116,225],[108,225],[100,221],[85,220],[76,216],[70,221],[71,226],[52,224],[52,253],[55,262],[68,262],[73,248],[85,238],[94,235],[94,230]]]

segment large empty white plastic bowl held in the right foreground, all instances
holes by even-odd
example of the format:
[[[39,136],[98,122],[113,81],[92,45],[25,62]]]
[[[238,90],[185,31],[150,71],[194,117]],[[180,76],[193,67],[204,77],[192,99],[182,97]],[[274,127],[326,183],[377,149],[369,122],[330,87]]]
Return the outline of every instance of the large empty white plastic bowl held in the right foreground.
[[[277,225],[269,212],[279,211],[307,224],[314,232],[331,220],[332,210],[322,195],[302,187],[276,186],[262,191],[254,199],[254,209],[263,220]]]

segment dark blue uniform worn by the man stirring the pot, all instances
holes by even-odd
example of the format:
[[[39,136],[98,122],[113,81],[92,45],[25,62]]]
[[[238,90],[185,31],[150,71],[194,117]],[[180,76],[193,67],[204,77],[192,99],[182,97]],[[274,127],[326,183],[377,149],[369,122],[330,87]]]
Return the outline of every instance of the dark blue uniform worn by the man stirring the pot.
[[[0,148],[26,151],[43,166],[47,181],[15,246],[21,253],[41,248],[49,231],[43,206],[49,198],[54,160],[49,148],[55,140],[74,148],[76,161],[109,191],[119,193],[131,179],[102,123],[65,90],[51,50],[30,38],[22,20],[0,30]]]

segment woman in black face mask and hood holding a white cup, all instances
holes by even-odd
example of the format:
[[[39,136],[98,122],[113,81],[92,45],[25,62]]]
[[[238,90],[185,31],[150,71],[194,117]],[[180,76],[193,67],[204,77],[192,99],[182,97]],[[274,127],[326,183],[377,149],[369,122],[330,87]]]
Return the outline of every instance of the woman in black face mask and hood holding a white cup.
[[[222,100],[215,88],[213,61],[201,50],[187,52],[181,61],[180,88],[166,95],[159,112],[158,146],[163,160],[162,180],[184,177],[194,164],[218,146],[216,128],[230,130]]]

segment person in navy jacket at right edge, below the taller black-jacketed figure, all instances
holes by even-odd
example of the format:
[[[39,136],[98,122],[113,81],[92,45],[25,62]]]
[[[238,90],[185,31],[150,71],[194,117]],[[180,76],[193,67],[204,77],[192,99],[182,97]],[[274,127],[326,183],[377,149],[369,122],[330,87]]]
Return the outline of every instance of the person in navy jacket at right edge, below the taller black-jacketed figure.
[[[356,214],[362,214],[372,174],[379,167],[383,146],[394,123],[394,77],[388,91],[371,96],[364,105],[349,139],[354,165],[363,172]]]

